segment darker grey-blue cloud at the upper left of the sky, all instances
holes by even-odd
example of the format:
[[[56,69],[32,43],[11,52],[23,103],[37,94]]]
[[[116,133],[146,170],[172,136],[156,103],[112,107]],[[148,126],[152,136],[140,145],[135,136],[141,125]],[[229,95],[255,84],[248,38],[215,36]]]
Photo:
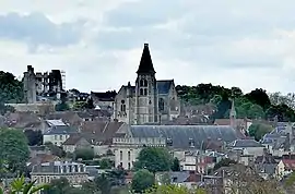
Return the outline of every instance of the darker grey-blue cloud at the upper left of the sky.
[[[80,40],[82,23],[55,24],[43,13],[8,13],[0,16],[0,37],[23,40],[33,46],[67,46]]]

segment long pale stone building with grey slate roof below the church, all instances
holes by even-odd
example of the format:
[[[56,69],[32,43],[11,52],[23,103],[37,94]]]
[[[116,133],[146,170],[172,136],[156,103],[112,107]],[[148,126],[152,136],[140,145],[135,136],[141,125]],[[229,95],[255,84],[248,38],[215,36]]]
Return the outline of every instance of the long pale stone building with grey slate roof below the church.
[[[125,131],[123,131],[125,130]],[[130,125],[113,138],[115,165],[132,169],[143,147],[167,147],[179,160],[186,151],[202,150],[208,140],[231,143],[240,138],[239,131],[219,125]]]

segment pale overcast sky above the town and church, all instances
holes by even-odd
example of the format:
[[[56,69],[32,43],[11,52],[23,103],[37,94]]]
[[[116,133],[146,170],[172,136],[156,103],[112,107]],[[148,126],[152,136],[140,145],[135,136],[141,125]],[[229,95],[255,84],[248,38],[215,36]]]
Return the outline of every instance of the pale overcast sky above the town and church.
[[[294,0],[1,0],[0,68],[118,90],[149,43],[156,78],[295,90]]]

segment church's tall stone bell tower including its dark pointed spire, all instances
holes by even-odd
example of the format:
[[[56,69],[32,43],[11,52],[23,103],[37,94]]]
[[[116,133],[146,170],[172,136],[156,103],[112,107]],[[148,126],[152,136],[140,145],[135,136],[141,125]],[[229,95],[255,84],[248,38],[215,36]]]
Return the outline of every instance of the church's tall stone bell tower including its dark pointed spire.
[[[158,122],[157,87],[149,44],[144,44],[135,81],[135,123]]]

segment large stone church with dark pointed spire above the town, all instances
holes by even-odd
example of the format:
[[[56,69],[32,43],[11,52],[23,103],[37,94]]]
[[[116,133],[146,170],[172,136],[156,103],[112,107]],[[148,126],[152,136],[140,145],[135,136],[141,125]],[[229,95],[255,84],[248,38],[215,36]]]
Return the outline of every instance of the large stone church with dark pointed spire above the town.
[[[144,44],[135,85],[128,82],[114,104],[114,119],[129,124],[161,124],[180,114],[174,80],[155,77],[149,44]]]

